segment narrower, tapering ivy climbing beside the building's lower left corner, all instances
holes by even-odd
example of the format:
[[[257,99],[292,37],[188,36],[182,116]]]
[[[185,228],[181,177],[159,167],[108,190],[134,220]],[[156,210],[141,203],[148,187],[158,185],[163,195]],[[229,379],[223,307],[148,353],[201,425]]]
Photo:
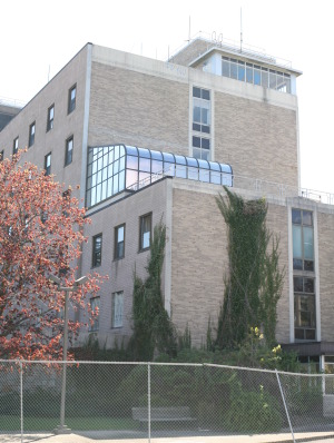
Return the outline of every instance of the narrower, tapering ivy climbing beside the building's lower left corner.
[[[161,270],[165,258],[166,226],[160,222],[154,228],[150,256],[146,266],[147,278],[134,276],[134,334],[129,350],[135,360],[151,361],[156,351],[175,356],[177,335],[164,306]]]

